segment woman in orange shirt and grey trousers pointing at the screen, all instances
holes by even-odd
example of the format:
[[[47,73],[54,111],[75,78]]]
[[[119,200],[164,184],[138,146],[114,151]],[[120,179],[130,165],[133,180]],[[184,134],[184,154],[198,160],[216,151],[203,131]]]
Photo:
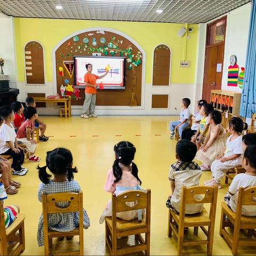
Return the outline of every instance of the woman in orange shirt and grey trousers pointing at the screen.
[[[85,100],[83,105],[83,113],[81,117],[82,118],[97,117],[97,115],[94,114],[95,103],[96,103],[96,93],[97,93],[96,80],[105,77],[108,74],[108,70],[104,75],[97,76],[92,74],[91,64],[86,64],[85,68],[87,69],[87,73],[84,75]]]

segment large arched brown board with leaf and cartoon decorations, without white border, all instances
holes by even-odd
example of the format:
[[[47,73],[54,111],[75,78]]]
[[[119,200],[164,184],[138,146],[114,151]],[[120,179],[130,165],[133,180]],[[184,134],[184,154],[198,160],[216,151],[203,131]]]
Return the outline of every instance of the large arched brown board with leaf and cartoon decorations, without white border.
[[[141,106],[142,53],[129,39],[110,31],[87,31],[66,40],[55,51],[57,92],[67,89],[71,94],[71,105],[83,105],[84,89],[70,93],[70,85],[75,85],[75,74],[66,61],[73,61],[74,55],[125,57],[125,90],[97,90],[97,106]],[[92,70],[93,73],[93,70]],[[74,87],[75,88],[75,87]],[[66,91],[66,92],[67,92]]]

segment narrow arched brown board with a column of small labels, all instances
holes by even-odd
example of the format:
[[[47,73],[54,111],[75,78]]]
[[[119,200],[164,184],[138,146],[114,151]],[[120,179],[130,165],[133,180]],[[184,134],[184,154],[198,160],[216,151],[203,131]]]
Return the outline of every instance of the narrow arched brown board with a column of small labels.
[[[36,41],[31,41],[26,44],[24,50],[26,84],[44,85],[43,46]]]

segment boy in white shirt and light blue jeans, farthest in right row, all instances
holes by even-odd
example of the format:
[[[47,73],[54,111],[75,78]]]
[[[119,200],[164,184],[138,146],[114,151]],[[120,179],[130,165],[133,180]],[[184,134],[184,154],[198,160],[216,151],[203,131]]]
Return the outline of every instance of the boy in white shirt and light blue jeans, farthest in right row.
[[[172,121],[170,123],[170,130],[171,130],[170,139],[174,137],[175,127],[177,127],[179,132],[179,137],[181,138],[182,131],[187,129],[187,127],[189,126],[189,118],[191,115],[190,110],[188,108],[189,105],[190,105],[190,99],[184,98],[181,100],[180,118],[178,121]]]

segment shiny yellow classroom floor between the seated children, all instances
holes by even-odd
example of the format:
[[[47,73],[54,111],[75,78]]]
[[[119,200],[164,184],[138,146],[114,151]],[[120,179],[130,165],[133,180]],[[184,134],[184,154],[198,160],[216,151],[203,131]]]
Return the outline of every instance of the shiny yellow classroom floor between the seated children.
[[[84,208],[89,214],[91,227],[84,230],[84,254],[105,255],[105,226],[99,224],[100,214],[110,194],[103,191],[107,170],[114,161],[113,147],[121,140],[131,141],[137,148],[135,163],[143,188],[151,189],[151,255],[177,254],[177,239],[167,237],[167,209],[165,201],[170,194],[170,182],[167,179],[169,166],[175,162],[175,140],[169,139],[170,116],[99,116],[82,119],[71,117],[42,116],[47,124],[48,142],[40,142],[36,155],[45,163],[46,151],[56,147],[66,147],[74,156],[74,165],[78,167],[75,179],[79,182],[84,195]],[[98,135],[98,136],[94,136]],[[116,136],[122,135],[122,136]],[[71,137],[74,136],[74,137]],[[15,176],[22,183],[17,195],[10,195],[4,202],[19,204],[21,212],[26,214],[25,238],[26,250],[23,255],[43,255],[44,247],[38,247],[36,241],[37,223],[42,205],[37,200],[39,179],[36,163],[24,164],[29,172]],[[210,179],[210,172],[204,172],[201,184]],[[222,182],[223,183],[223,182]],[[220,202],[228,186],[223,185],[218,194],[218,206],[214,231],[213,255],[231,255],[227,243],[219,236]],[[200,232],[200,231],[199,231]],[[189,231],[189,237],[192,232]],[[57,247],[74,242],[58,243]],[[254,248],[255,249],[255,248]],[[188,255],[205,255],[206,246],[191,246],[183,251]],[[238,253],[254,254],[253,247],[241,248]],[[108,254],[108,253],[107,253]]]

